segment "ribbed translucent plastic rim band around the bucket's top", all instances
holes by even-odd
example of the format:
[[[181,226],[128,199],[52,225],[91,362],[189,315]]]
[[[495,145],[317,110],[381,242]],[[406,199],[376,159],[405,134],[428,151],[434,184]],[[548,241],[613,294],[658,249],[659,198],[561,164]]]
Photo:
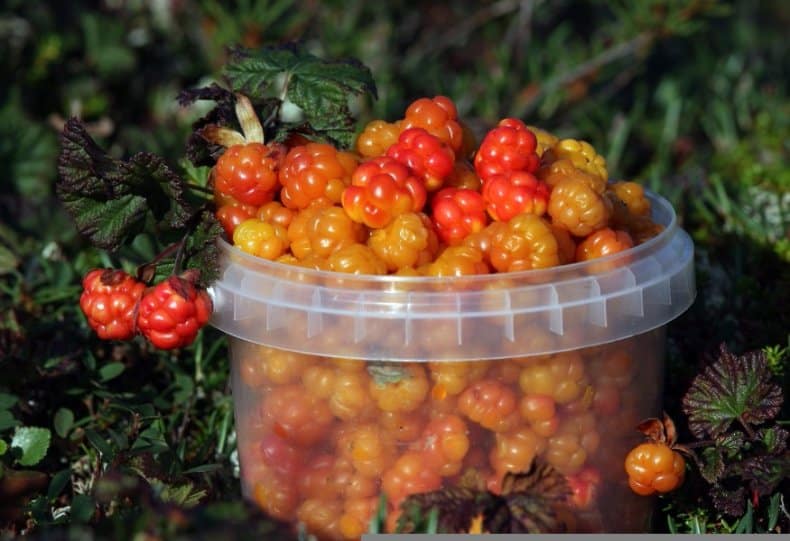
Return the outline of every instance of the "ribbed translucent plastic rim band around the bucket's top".
[[[586,348],[642,334],[693,302],[694,248],[648,194],[657,237],[551,269],[460,278],[358,276],[256,258],[221,241],[212,324],[271,347],[365,360],[474,360]]]

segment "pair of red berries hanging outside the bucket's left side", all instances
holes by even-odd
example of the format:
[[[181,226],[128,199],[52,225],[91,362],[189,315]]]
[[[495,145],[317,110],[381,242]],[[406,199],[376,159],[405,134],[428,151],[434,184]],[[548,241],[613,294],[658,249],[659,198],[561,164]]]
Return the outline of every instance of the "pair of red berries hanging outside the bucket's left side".
[[[208,294],[191,276],[170,276],[146,288],[126,272],[95,269],[82,281],[80,308],[104,340],[129,340],[138,332],[159,349],[188,346],[211,316]]]

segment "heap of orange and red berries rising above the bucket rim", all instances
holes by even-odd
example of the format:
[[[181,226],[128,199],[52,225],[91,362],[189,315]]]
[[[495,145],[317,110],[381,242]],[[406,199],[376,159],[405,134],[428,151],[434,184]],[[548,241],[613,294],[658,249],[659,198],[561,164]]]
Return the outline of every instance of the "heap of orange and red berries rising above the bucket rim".
[[[656,236],[641,185],[609,182],[587,142],[515,118],[479,144],[445,96],[396,122],[369,122],[355,152],[301,136],[266,143],[239,95],[243,133],[212,170],[216,216],[241,250],[316,270],[461,276],[541,269],[627,250]]]

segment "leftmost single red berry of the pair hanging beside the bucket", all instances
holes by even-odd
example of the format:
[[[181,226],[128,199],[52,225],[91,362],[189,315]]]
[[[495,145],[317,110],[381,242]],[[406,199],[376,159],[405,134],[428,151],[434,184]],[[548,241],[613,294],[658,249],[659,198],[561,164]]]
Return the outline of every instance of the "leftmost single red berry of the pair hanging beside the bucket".
[[[94,269],[82,280],[80,308],[103,340],[128,340],[135,334],[135,310],[145,284],[122,270]]]

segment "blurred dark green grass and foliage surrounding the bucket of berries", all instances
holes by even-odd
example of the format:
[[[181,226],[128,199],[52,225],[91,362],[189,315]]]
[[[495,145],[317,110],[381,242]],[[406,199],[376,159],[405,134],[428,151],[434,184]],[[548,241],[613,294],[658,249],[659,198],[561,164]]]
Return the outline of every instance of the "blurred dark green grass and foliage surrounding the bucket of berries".
[[[722,341],[766,348],[788,388],[788,27],[782,0],[6,0],[0,455],[18,426],[48,433],[23,489],[8,480],[24,462],[0,456],[0,537],[55,535],[57,525],[167,537],[209,531],[218,516],[237,533],[258,531],[255,511],[238,503],[218,333],[163,354],[102,344],[79,314],[88,269],[133,268],[150,246],[100,253],[60,209],[57,136],[68,117],[113,155],[146,150],[186,166],[186,137],[205,110],[180,108],[179,90],[213,81],[228,45],[301,40],[371,68],[379,99],[353,104],[360,128],[444,94],[479,135],[516,116],[585,139],[613,179],[668,197],[695,239],[698,300],[670,327],[666,405],[679,415],[690,378]],[[101,479],[106,471],[134,475]],[[698,492],[662,500],[656,531],[667,516],[691,531],[732,529]]]

